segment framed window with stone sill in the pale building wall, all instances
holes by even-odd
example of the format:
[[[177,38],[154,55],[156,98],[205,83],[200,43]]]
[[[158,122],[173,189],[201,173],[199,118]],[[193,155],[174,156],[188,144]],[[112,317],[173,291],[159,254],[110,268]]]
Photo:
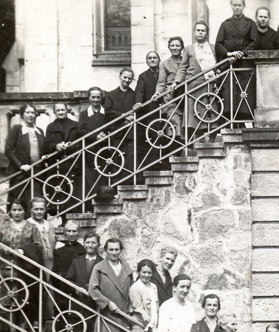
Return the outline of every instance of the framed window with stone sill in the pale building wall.
[[[130,65],[130,0],[93,0],[93,65]]]

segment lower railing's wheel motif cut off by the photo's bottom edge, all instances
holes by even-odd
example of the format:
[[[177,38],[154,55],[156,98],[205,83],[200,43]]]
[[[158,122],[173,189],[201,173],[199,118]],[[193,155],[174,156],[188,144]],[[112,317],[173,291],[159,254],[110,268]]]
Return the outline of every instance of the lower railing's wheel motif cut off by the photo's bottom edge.
[[[70,320],[69,316],[70,316],[71,320],[73,318],[74,323],[69,322],[69,320]],[[77,316],[77,317],[74,317],[74,316]],[[76,320],[76,318],[77,318],[77,320]],[[60,323],[60,325],[63,325],[62,331],[80,332],[81,331],[80,326],[79,326],[80,324],[83,325],[82,332],[86,332],[86,330],[87,330],[87,324],[86,324],[85,318],[78,311],[65,310],[65,311],[61,311],[60,313],[58,313],[58,315],[55,317],[55,319],[52,323],[52,332],[58,332],[58,331],[56,331],[56,323],[59,322],[59,320],[62,320],[62,323]],[[75,327],[76,327],[76,329],[74,330]]]

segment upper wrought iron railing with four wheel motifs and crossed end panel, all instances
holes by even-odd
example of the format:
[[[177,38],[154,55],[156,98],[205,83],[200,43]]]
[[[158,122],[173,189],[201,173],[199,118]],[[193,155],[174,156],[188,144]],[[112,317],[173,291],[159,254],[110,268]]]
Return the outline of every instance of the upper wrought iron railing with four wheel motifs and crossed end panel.
[[[218,70],[220,68],[222,71]],[[204,75],[212,70],[216,75],[204,80]],[[69,211],[86,211],[86,203],[96,196],[97,187],[100,185],[116,187],[119,184],[142,184],[140,174],[150,167],[166,162],[169,156],[181,154],[183,151],[184,155],[187,155],[187,147],[202,141],[206,136],[216,134],[223,127],[253,122],[253,105],[248,102],[248,90],[254,74],[255,68],[233,68],[228,65],[228,59],[225,59],[178,84],[175,91],[181,88],[183,91],[167,103],[157,104],[157,107],[148,113],[130,110],[72,142],[70,146],[75,146],[76,151],[70,155],[59,159],[59,154],[54,152],[46,159],[32,164],[30,175],[15,186],[2,191],[0,197],[18,188],[21,188],[19,196],[24,190],[30,190],[30,196],[33,197],[34,188],[39,185],[48,201],[48,207],[56,209],[52,214],[59,216]],[[246,78],[242,80],[241,75],[246,75]],[[222,94],[227,89],[230,100],[224,101]],[[142,109],[151,103],[161,103],[164,96],[175,91],[165,91],[155,100],[144,103]],[[235,96],[238,96],[238,100]],[[164,109],[170,104],[175,104],[175,107],[166,115]],[[189,104],[191,109],[188,110]],[[250,119],[238,119],[243,104]],[[172,123],[178,109],[184,110],[184,124],[188,123],[190,112],[196,123],[190,132],[187,125],[184,126],[183,138],[176,136],[175,125]],[[134,120],[125,122],[128,115],[133,115]],[[105,131],[106,136],[88,143],[87,139],[100,131]],[[47,167],[45,163],[48,163]],[[88,181],[86,173],[89,169],[91,177]],[[20,173],[1,180],[0,184]]]

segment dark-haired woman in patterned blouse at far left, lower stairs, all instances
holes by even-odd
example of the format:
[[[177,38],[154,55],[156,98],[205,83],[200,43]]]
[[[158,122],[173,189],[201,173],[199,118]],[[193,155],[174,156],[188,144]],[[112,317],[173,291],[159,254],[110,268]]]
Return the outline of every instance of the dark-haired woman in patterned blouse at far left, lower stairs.
[[[42,253],[40,235],[37,227],[24,219],[26,211],[27,205],[24,200],[16,198],[11,202],[11,218],[5,218],[0,223],[0,242],[41,264]],[[2,250],[0,250],[0,254],[7,260],[16,260],[17,264],[22,269],[27,270],[29,273],[35,274],[38,277],[38,271],[32,264],[19,259],[17,256],[14,257],[9,251],[1,251]],[[2,263],[0,266],[1,274],[10,276],[10,272],[5,268],[6,264]],[[34,282],[32,277],[27,276],[24,273],[17,272],[17,274],[27,285]],[[38,320],[38,284],[28,288],[30,293],[29,303],[25,305],[24,309],[27,317],[33,323],[33,321]],[[21,293],[19,294],[19,297],[20,295]]]

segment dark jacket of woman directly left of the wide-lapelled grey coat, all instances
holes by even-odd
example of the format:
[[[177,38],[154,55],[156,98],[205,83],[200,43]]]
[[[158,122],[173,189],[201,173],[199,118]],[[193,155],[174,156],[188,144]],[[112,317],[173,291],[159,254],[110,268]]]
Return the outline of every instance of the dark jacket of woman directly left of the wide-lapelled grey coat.
[[[86,254],[83,254],[79,257],[74,258],[70,269],[66,274],[66,279],[72,281],[79,287],[83,287],[84,289],[88,290],[88,284],[91,274],[88,273],[87,265],[86,265]],[[93,267],[101,262],[103,258],[97,254]]]

